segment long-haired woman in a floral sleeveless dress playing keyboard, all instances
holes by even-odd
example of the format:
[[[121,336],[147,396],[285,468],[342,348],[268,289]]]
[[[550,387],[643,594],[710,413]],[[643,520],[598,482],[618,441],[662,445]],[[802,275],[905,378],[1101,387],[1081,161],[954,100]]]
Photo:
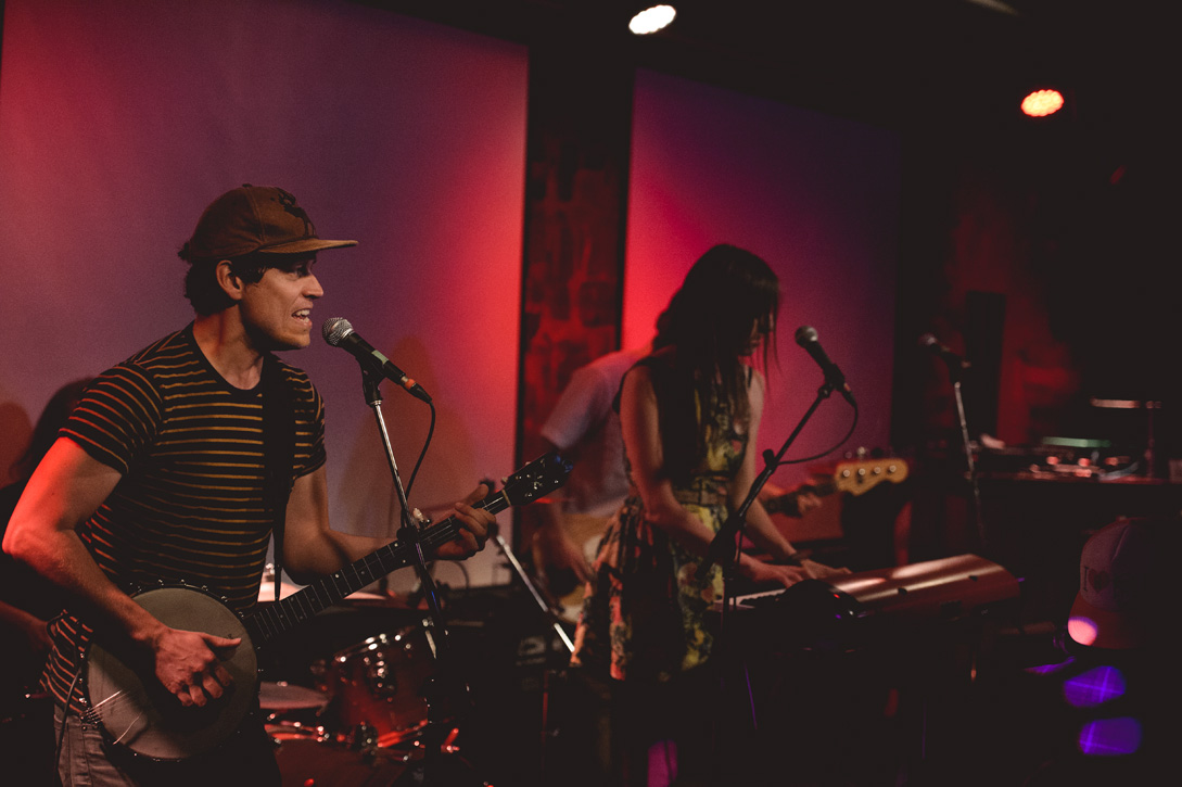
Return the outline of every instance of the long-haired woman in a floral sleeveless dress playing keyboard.
[[[619,417],[631,492],[587,585],[573,664],[612,678],[615,774],[623,783],[693,778],[708,753],[714,637],[706,612],[722,571],[703,557],[758,475],[755,444],[774,349],[779,280],[762,259],[715,246],[657,319],[652,353],[625,376]],[[739,572],[785,586],[834,570],[800,561],[759,502]],[[695,710],[696,709],[696,710]]]

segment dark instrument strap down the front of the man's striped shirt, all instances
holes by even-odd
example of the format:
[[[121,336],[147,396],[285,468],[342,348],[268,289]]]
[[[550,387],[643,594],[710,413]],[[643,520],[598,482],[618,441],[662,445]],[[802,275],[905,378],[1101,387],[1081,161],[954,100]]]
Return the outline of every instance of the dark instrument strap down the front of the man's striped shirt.
[[[275,600],[284,572],[284,522],[296,458],[296,403],[287,376],[271,353],[262,357],[262,502],[275,539]]]

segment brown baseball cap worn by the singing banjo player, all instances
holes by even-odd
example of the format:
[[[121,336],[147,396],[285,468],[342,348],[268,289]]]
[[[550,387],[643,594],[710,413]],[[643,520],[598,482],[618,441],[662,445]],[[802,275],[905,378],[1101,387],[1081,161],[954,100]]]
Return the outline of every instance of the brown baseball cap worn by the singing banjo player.
[[[210,203],[187,245],[188,259],[228,259],[262,252],[309,254],[356,246],[357,241],[322,240],[296,197],[274,186],[246,183]]]

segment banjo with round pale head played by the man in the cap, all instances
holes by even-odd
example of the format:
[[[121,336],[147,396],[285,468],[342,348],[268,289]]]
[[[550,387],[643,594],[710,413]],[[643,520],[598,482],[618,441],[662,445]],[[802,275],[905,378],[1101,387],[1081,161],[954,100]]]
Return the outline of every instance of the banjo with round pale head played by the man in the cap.
[[[474,507],[495,514],[509,506],[533,502],[563,486],[570,471],[571,464],[551,451],[506,479],[504,488]],[[423,528],[418,541],[430,549],[455,538],[460,529],[456,518],[449,516]],[[414,544],[392,541],[247,617],[207,590],[189,585],[136,593],[136,603],[170,627],[241,637],[242,644],[227,652],[221,663],[233,683],[203,708],[186,708],[142,659],[92,642],[83,664],[83,690],[89,701],[84,721],[97,723],[111,742],[155,760],[184,760],[215,748],[254,707],[259,690],[258,648],[381,577],[410,565],[414,551]]]

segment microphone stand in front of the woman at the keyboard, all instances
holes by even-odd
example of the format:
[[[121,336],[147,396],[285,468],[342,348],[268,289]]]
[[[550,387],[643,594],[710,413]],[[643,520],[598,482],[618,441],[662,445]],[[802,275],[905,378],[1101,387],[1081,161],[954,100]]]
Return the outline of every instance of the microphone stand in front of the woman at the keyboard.
[[[703,573],[700,575],[704,575],[704,572],[708,572],[715,562],[721,564],[722,566],[722,607],[719,614],[717,642],[719,642],[719,649],[727,658],[729,658],[728,655],[729,643],[727,642],[727,633],[729,627],[727,624],[727,619],[729,617],[728,607],[734,603],[732,587],[734,581],[739,579],[739,560],[742,554],[742,534],[743,534],[743,528],[747,525],[747,510],[751,508],[752,503],[755,502],[756,497],[759,496],[760,489],[762,489],[764,484],[767,483],[767,480],[772,477],[772,474],[775,471],[775,468],[779,467],[780,460],[787,453],[788,447],[792,445],[792,443],[795,441],[797,435],[799,435],[800,430],[805,428],[806,423],[808,423],[808,419],[812,417],[813,412],[817,411],[817,408],[820,406],[820,403],[827,399],[833,394],[834,388],[836,388],[836,381],[829,379],[826,377],[821,386],[817,389],[817,396],[816,398],[813,398],[813,403],[808,406],[808,410],[804,414],[804,416],[801,416],[800,422],[797,423],[795,429],[792,430],[792,434],[788,435],[788,438],[784,441],[784,445],[780,447],[779,453],[773,454],[771,450],[764,451],[764,469],[760,471],[758,476],[755,476],[755,481],[751,484],[751,490],[747,492],[747,496],[743,499],[742,503],[739,506],[739,508],[736,508],[734,512],[730,513],[730,515],[727,518],[727,521],[722,523],[722,527],[720,527],[719,532],[714,535],[714,540],[710,541],[709,549],[706,554],[706,560],[703,561],[702,568],[700,570]],[[722,685],[720,687],[722,700],[726,698],[725,675],[726,674],[723,671],[723,677],[721,681]],[[747,711],[749,713],[749,718],[751,718],[751,731],[754,733],[759,730],[759,720],[755,714],[755,697],[752,692],[751,675],[747,671],[746,661],[742,662],[742,677],[743,677],[743,683],[746,684],[747,688],[746,700],[747,700]],[[717,736],[715,740],[717,740]],[[716,765],[717,765],[717,757],[715,757],[715,767]],[[717,773],[714,774],[714,780],[716,781],[716,779],[721,774]]]

